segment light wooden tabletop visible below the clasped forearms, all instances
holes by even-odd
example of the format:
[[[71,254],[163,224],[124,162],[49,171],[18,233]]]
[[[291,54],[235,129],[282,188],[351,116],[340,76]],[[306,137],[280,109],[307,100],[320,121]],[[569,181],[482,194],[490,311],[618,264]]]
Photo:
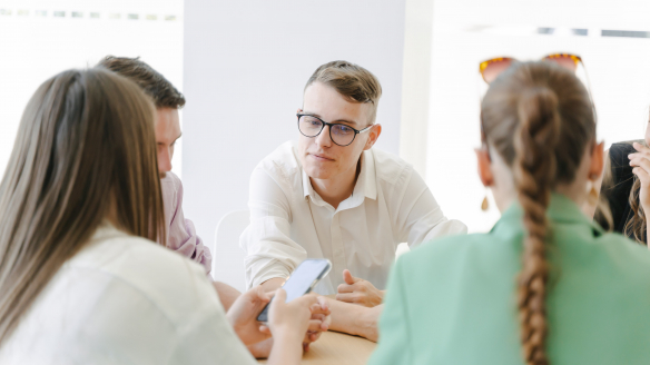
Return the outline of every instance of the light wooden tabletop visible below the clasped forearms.
[[[309,351],[303,356],[303,364],[308,365],[361,365],[367,363],[375,349],[372,341],[327,331],[321,338],[309,345]],[[266,361],[259,361],[266,364]]]

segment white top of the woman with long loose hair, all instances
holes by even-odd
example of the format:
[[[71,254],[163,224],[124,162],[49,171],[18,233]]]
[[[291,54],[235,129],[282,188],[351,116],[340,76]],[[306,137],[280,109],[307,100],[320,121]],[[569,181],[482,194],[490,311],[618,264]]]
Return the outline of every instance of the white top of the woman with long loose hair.
[[[205,269],[105,226],[0,348],[0,364],[256,364]]]

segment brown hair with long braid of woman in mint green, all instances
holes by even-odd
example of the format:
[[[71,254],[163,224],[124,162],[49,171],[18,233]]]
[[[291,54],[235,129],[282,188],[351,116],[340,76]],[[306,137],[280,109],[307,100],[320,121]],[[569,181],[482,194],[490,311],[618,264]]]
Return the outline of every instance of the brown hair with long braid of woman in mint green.
[[[551,191],[575,179],[582,157],[595,144],[591,99],[575,75],[548,61],[512,66],[491,83],[481,105],[484,142],[510,166],[523,208],[522,269],[518,306],[525,364],[546,356],[546,209]]]

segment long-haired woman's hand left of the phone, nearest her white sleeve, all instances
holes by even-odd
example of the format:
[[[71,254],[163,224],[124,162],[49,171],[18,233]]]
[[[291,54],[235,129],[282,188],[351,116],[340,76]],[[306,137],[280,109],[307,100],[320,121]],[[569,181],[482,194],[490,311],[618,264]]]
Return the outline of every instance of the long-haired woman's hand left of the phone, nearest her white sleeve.
[[[269,333],[260,331],[257,315],[272,296],[273,293],[265,293],[258,285],[242,294],[226,314],[233,329],[245,345],[253,345],[270,337]]]

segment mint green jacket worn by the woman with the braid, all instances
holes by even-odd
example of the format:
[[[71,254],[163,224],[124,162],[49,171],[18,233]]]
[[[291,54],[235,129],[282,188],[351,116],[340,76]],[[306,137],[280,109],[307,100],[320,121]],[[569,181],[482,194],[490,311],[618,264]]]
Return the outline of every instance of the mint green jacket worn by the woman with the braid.
[[[650,253],[554,195],[548,210],[550,364],[650,364]],[[522,365],[515,204],[489,234],[427,243],[391,272],[368,364]]]

